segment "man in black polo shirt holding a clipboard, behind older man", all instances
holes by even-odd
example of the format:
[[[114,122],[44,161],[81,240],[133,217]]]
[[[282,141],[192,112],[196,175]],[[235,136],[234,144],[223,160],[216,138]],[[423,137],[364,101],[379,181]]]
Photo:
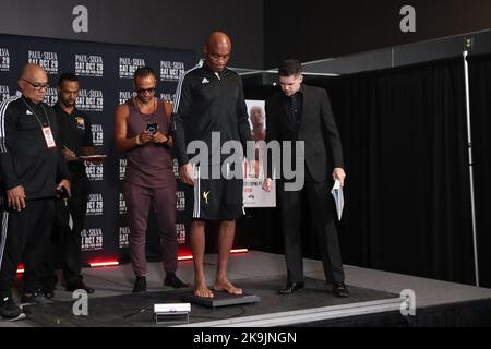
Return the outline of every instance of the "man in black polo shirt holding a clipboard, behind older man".
[[[55,296],[58,282],[56,268],[63,270],[67,291],[84,289],[93,293],[94,289],[84,284],[81,270],[81,231],[84,228],[87,212],[88,179],[85,163],[80,156],[94,155],[92,122],[88,116],[75,106],[80,92],[76,75],[61,74],[58,80],[58,103],[53,106],[60,145],[71,174],[70,200],[57,201],[57,219],[51,236],[52,253],[45,261],[41,286],[43,293],[50,299]],[[73,226],[70,227],[69,218]]]

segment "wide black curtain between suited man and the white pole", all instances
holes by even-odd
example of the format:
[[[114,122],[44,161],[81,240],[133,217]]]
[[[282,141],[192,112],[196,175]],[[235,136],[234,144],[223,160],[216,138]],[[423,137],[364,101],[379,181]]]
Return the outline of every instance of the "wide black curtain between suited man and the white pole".
[[[463,59],[307,83],[327,89],[342,134],[344,263],[474,284]]]

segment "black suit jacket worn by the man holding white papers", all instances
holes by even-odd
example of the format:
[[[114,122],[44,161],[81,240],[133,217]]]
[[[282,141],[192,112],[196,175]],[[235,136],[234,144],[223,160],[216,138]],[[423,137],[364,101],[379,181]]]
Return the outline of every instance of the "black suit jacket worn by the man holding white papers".
[[[331,178],[334,168],[343,167],[342,142],[325,89],[307,85],[302,88],[299,128],[284,106],[282,91],[266,100],[266,142],[304,141],[307,169],[315,182],[322,182]]]

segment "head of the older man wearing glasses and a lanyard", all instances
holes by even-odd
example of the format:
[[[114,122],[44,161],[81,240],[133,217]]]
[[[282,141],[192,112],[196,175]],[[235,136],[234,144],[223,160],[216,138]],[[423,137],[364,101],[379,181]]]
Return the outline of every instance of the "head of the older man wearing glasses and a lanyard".
[[[48,89],[48,74],[38,64],[28,63],[22,69],[17,84],[26,98],[39,104]]]

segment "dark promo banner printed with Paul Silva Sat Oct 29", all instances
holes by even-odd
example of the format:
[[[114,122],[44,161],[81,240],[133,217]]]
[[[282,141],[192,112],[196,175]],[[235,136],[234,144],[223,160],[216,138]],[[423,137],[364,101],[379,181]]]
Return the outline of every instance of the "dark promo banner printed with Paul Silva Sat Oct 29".
[[[195,53],[128,45],[97,44],[14,35],[0,35],[0,100],[20,94],[17,80],[25,63],[36,63],[48,73],[50,87],[46,103],[53,105],[60,74],[74,73],[80,79],[79,109],[92,120],[92,133],[97,154],[107,154],[103,164],[86,164],[89,180],[87,217],[82,231],[83,262],[116,258],[128,261],[129,228],[127,206],[121,191],[125,172],[125,155],[115,149],[113,112],[119,104],[133,95],[132,77],[142,65],[157,74],[156,96],[168,101],[179,76],[195,64]],[[177,176],[177,163],[175,163]],[[192,194],[178,182],[176,194],[176,230],[180,250],[185,249],[185,217],[190,217]],[[190,204],[188,203],[188,197]],[[147,229],[147,255],[158,260],[159,238],[152,213]]]

